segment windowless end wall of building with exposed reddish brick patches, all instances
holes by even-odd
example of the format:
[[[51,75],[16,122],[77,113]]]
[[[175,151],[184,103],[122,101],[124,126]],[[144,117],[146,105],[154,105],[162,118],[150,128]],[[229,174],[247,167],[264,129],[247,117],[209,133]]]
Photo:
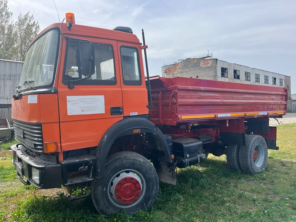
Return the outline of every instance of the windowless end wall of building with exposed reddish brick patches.
[[[185,59],[165,70],[166,77],[176,76],[213,80],[216,75],[216,59]]]

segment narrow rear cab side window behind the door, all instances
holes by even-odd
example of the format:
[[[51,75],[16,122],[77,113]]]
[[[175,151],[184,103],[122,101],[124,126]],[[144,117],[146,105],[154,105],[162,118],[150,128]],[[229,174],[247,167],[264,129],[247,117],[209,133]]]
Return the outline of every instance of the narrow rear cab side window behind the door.
[[[141,85],[139,54],[136,48],[120,47],[123,83],[125,85]]]

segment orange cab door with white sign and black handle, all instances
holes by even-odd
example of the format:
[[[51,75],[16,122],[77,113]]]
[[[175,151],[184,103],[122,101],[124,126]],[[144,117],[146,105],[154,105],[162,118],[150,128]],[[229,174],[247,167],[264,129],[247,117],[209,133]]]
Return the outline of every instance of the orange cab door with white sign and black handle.
[[[88,75],[80,66],[81,45],[86,42],[73,38],[63,38],[64,68],[58,83],[62,151],[98,146],[107,129],[123,119],[117,42],[87,38],[94,45],[94,74],[69,89],[68,81]]]

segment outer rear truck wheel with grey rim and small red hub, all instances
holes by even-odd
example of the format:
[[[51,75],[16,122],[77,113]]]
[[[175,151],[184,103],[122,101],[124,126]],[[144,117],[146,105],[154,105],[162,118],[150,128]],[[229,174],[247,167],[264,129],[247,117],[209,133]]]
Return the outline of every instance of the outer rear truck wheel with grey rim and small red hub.
[[[239,149],[239,164],[245,173],[261,173],[267,162],[267,145],[262,136],[245,135],[246,145]]]

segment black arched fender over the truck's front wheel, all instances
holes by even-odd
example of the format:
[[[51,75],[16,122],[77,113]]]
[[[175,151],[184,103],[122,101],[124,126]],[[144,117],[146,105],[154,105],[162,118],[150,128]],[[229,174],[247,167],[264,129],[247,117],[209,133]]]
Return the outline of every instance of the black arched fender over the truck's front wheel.
[[[102,136],[102,139],[94,151],[94,155],[97,157],[96,161],[96,177],[100,178],[104,175],[105,162],[108,152],[115,141],[120,136],[132,135],[133,129],[141,129],[140,133],[151,133],[156,136],[161,145],[165,148],[166,159],[169,163],[172,163],[170,158],[170,151],[168,144],[163,136],[163,133],[154,123],[150,122],[146,118],[132,117],[118,121],[112,125]]]

